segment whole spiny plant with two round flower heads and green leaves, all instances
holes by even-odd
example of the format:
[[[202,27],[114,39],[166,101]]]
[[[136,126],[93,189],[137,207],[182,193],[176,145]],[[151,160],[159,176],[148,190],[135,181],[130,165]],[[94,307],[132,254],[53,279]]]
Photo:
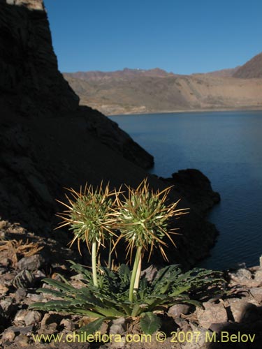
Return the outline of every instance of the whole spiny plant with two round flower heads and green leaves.
[[[144,179],[138,188],[126,188],[128,194],[121,198],[119,194],[122,192],[109,191],[108,185],[104,191],[102,184],[96,190],[86,185],[79,193],[68,189],[71,198],[66,195],[67,203],[61,202],[66,211],[58,214],[62,218],[59,228],[69,225],[74,234],[71,245],[78,241],[79,250],[81,240],[86,242],[89,251],[92,248],[92,272],[71,262],[71,269],[82,275],[84,285],[74,288],[62,276],[62,281],[44,279],[52,288],[38,291],[59,298],[35,303],[31,308],[96,318],[81,328],[87,333],[98,330],[104,320],[138,318],[142,331],[152,334],[161,325],[154,311],[165,310],[181,302],[200,305],[201,295],[221,292],[221,275],[205,269],[193,269],[182,274],[177,265],[170,265],[159,270],[153,281],[140,276],[145,252],[149,253],[150,259],[154,247],[159,248],[167,260],[163,249],[167,244],[163,239],[166,237],[175,245],[171,237],[175,231],[168,230],[169,220],[184,214],[185,209],[177,209],[178,201],[167,204],[170,187],[154,192]],[[120,230],[119,234],[117,230]],[[132,271],[128,265],[121,265],[117,270],[98,267],[96,255],[105,239],[115,240],[112,249],[117,249],[119,241],[124,239],[126,258],[130,263],[133,250],[136,250]]]

